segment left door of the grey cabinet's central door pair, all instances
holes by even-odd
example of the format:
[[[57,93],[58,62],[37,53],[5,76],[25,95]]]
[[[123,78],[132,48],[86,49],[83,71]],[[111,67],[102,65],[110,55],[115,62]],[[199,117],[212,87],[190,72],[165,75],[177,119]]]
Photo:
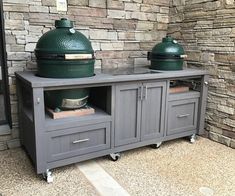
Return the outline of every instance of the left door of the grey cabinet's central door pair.
[[[115,146],[140,141],[141,85],[116,86]]]

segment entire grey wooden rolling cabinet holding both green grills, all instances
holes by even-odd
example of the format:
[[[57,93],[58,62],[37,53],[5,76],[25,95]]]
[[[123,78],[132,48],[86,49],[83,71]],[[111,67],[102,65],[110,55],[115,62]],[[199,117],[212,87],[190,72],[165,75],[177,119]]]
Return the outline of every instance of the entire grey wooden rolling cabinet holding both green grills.
[[[21,144],[37,173],[47,179],[55,167],[204,132],[206,71],[137,75],[96,71],[94,77],[80,79],[18,72],[16,79]],[[170,82],[179,79],[196,79],[199,88],[171,94]],[[45,91],[68,88],[90,88],[88,102],[95,114],[50,118]]]

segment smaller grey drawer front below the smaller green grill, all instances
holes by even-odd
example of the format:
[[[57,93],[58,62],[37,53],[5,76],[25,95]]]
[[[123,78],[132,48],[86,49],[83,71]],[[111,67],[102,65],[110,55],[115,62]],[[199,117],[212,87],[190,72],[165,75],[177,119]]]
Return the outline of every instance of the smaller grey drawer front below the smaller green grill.
[[[198,98],[168,103],[167,135],[197,128]]]

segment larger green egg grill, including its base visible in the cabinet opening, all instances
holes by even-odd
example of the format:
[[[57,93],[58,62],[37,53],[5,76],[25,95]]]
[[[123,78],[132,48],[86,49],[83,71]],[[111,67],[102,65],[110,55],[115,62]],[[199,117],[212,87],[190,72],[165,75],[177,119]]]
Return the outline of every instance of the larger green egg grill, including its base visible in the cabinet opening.
[[[91,42],[62,18],[55,29],[43,34],[35,48],[37,75],[46,78],[83,78],[94,75],[94,50]],[[64,89],[45,92],[45,104],[51,109],[76,109],[86,104],[89,89]]]

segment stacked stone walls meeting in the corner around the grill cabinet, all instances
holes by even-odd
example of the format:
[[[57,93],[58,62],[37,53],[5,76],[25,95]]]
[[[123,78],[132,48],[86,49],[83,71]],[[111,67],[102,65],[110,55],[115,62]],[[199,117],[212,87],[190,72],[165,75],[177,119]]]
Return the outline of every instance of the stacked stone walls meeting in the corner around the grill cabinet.
[[[228,145],[229,137],[220,136],[232,135],[228,132],[235,126],[235,104],[229,101],[235,96],[234,0],[68,0],[67,13],[57,13],[55,2],[3,1],[10,86],[14,85],[15,71],[36,68],[35,44],[62,15],[74,20],[75,28],[89,37],[99,55],[96,66],[102,68],[141,63],[147,51],[168,32],[185,47],[188,67],[211,72],[207,122],[218,132],[218,138],[214,133],[211,136]],[[17,98],[14,87],[10,89],[13,106]],[[12,108],[13,125],[17,128],[17,110]],[[210,128],[207,131],[211,132]],[[12,137],[13,133],[9,135]],[[231,146],[232,143],[233,140]]]

